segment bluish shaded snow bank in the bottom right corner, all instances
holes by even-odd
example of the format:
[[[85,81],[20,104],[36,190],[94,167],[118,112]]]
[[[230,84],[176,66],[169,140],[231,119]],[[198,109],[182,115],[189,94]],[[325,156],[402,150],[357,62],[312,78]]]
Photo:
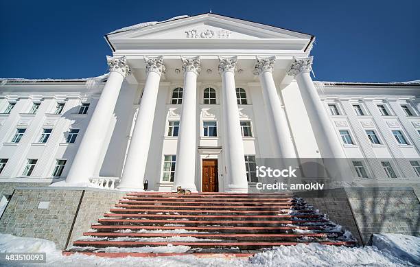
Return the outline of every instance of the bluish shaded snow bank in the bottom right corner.
[[[420,266],[420,237],[384,233],[373,235],[373,246]]]

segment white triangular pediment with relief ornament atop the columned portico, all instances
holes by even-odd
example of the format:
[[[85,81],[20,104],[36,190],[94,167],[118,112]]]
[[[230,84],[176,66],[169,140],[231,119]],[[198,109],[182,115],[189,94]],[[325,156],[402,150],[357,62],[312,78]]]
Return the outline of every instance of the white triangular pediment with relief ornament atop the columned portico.
[[[279,27],[264,25],[218,14],[201,14],[158,23],[142,23],[117,30],[106,35],[110,45],[116,49],[147,49],[157,45],[163,49],[165,44],[226,44],[246,42],[264,45],[285,44],[283,49],[301,49],[312,36],[293,32]],[[148,45],[146,45],[148,44]],[[274,46],[273,46],[274,47]]]

